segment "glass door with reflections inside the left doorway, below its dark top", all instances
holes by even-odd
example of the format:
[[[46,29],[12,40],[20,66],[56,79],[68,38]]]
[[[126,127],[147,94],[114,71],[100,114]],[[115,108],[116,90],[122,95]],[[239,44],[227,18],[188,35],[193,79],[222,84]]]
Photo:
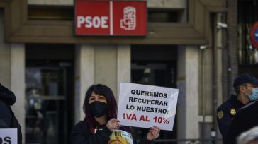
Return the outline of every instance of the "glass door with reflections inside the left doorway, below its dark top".
[[[67,143],[66,76],[66,68],[26,68],[26,143]]]

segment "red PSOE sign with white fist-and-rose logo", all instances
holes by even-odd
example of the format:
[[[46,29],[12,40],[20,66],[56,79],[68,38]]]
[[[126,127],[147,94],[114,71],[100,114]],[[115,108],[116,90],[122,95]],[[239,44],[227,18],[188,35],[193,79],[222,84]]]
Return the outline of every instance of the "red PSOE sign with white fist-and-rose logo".
[[[75,35],[146,35],[147,1],[75,1]]]

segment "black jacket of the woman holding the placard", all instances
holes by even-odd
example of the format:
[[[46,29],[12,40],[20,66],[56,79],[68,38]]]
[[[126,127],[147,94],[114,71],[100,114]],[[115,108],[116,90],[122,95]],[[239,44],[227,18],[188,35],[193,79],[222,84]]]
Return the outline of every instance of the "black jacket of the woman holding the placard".
[[[71,133],[72,144],[99,144],[99,143],[108,143],[112,131],[110,131],[106,126],[102,130],[96,131],[94,135],[89,133],[89,130],[86,130],[84,124],[79,122],[76,124]]]

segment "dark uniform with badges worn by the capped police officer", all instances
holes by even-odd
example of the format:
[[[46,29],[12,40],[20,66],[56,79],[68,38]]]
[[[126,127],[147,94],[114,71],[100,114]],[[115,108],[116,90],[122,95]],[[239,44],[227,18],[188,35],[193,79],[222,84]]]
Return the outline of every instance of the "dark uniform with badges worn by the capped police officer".
[[[243,107],[245,104],[242,104],[237,100],[236,95],[231,95],[230,100],[224,102],[217,109],[217,120],[218,128],[220,133],[223,136],[223,143],[225,143],[225,138],[228,135],[228,131],[232,122],[233,117],[237,113],[238,109]]]

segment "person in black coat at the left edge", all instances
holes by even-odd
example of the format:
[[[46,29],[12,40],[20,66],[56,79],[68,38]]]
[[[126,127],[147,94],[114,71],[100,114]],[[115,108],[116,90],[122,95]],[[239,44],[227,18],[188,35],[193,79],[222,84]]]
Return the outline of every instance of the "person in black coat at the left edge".
[[[22,143],[21,126],[11,110],[11,105],[16,102],[16,96],[0,84],[0,119],[3,128],[17,128],[18,144]]]

